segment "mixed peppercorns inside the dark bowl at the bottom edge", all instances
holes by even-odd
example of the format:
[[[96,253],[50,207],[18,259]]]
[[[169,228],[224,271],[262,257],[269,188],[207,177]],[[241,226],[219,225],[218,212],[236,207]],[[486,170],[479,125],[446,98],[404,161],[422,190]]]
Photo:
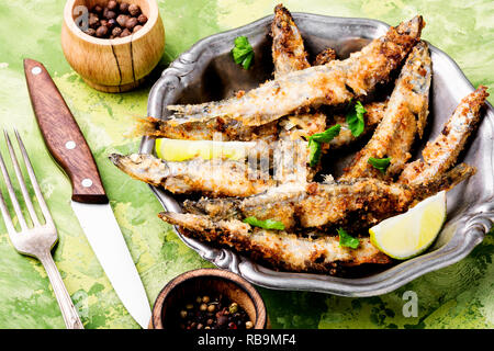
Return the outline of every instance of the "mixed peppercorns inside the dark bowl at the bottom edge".
[[[197,296],[179,310],[181,329],[250,329],[247,313],[222,295]]]

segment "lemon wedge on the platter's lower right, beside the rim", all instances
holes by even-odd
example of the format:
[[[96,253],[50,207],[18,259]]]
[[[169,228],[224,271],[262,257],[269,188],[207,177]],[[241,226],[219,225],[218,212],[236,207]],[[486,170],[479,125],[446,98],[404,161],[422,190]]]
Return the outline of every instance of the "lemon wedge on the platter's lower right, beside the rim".
[[[430,196],[406,213],[369,229],[371,242],[388,256],[406,260],[424,252],[446,220],[446,192]]]

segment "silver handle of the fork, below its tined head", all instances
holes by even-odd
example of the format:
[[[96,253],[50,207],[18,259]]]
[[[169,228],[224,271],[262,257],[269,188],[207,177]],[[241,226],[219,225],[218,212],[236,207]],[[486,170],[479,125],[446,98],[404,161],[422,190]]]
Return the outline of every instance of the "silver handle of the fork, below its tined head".
[[[67,329],[85,329],[82,322],[80,321],[79,315],[77,314],[77,309],[74,306],[72,299],[65,287],[61,275],[55,265],[52,253],[44,252],[40,254],[38,259],[48,274],[49,282],[52,283],[53,291],[55,292],[58,306],[60,306],[61,316],[64,317]]]

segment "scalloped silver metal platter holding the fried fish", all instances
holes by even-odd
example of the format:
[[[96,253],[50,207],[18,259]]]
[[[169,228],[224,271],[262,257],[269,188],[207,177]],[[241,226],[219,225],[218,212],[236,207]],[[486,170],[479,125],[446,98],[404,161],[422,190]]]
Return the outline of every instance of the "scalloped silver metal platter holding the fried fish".
[[[340,58],[359,50],[370,39],[383,35],[389,25],[375,20],[332,18],[293,13],[304,37],[307,52],[315,54],[333,47]],[[408,20],[408,19],[403,19]],[[427,20],[427,19],[426,19]],[[232,97],[272,78],[271,38],[268,35],[272,15],[246,26],[206,37],[180,55],[153,87],[148,114],[167,118],[166,106],[176,103],[199,103]],[[255,65],[242,69],[231,56],[235,37],[245,35],[255,49]],[[433,87],[428,127],[416,147],[413,159],[420,155],[427,139],[438,135],[460,100],[474,89],[457,64],[430,45]],[[460,161],[478,168],[476,174],[448,192],[448,222],[433,248],[414,259],[363,278],[337,278],[325,274],[279,272],[257,264],[229,249],[217,249],[198,240],[177,235],[201,257],[222,269],[240,274],[248,281],[269,288],[330,293],[341,296],[381,295],[427,272],[452,264],[479,245],[494,220],[494,110],[487,104],[479,131],[470,137]],[[154,152],[154,139],[144,137],[141,152]],[[360,145],[361,147],[362,145]],[[357,148],[358,149],[358,148]],[[332,169],[337,176],[353,150],[336,155]],[[166,211],[180,212],[180,200],[162,189],[151,186]]]

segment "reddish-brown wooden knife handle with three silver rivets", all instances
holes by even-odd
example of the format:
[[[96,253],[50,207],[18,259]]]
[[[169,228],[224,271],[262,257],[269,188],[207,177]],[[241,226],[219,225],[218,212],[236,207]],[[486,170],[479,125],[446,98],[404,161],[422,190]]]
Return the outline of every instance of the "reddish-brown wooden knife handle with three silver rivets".
[[[72,184],[72,200],[108,203],[98,167],[80,128],[46,68],[24,59],[34,115],[49,152]]]

